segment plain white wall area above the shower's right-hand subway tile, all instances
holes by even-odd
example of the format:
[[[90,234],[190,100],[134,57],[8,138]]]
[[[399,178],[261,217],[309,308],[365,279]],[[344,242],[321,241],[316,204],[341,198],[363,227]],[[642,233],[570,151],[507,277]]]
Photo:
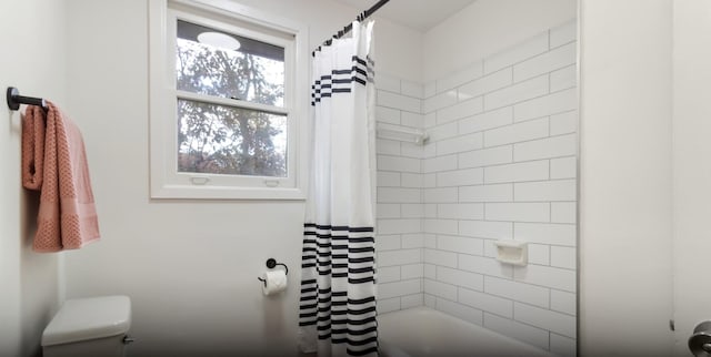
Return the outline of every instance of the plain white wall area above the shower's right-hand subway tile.
[[[424,82],[560,26],[577,16],[575,0],[478,0],[424,34]]]

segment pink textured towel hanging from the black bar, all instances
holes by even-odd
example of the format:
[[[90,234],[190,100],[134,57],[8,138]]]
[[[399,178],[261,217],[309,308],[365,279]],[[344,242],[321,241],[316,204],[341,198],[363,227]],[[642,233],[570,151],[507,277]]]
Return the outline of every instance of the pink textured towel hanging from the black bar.
[[[32,249],[77,249],[98,241],[89,167],[81,132],[54,104],[29,105],[22,119],[22,185],[39,190]]]

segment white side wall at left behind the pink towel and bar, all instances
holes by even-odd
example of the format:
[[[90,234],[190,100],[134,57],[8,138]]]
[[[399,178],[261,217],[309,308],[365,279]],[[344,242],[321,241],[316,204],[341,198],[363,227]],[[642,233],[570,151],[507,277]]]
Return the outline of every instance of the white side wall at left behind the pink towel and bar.
[[[66,99],[63,1],[4,1],[0,6],[0,355],[34,356],[59,304],[58,254],[31,252],[37,195],[20,183],[21,112],[4,91]],[[22,108],[23,112],[23,108]]]

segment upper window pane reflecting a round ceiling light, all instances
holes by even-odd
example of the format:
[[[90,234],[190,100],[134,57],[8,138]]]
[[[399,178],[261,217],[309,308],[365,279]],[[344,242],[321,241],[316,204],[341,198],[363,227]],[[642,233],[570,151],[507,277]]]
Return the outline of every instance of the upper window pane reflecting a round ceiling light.
[[[178,20],[176,54],[179,90],[283,106],[281,47]]]

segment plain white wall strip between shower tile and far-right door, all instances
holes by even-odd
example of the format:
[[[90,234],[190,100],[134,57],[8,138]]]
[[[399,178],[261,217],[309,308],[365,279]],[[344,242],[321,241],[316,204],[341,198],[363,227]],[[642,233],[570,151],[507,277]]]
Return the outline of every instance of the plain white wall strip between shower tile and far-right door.
[[[581,1],[580,348],[669,356],[671,1]]]

